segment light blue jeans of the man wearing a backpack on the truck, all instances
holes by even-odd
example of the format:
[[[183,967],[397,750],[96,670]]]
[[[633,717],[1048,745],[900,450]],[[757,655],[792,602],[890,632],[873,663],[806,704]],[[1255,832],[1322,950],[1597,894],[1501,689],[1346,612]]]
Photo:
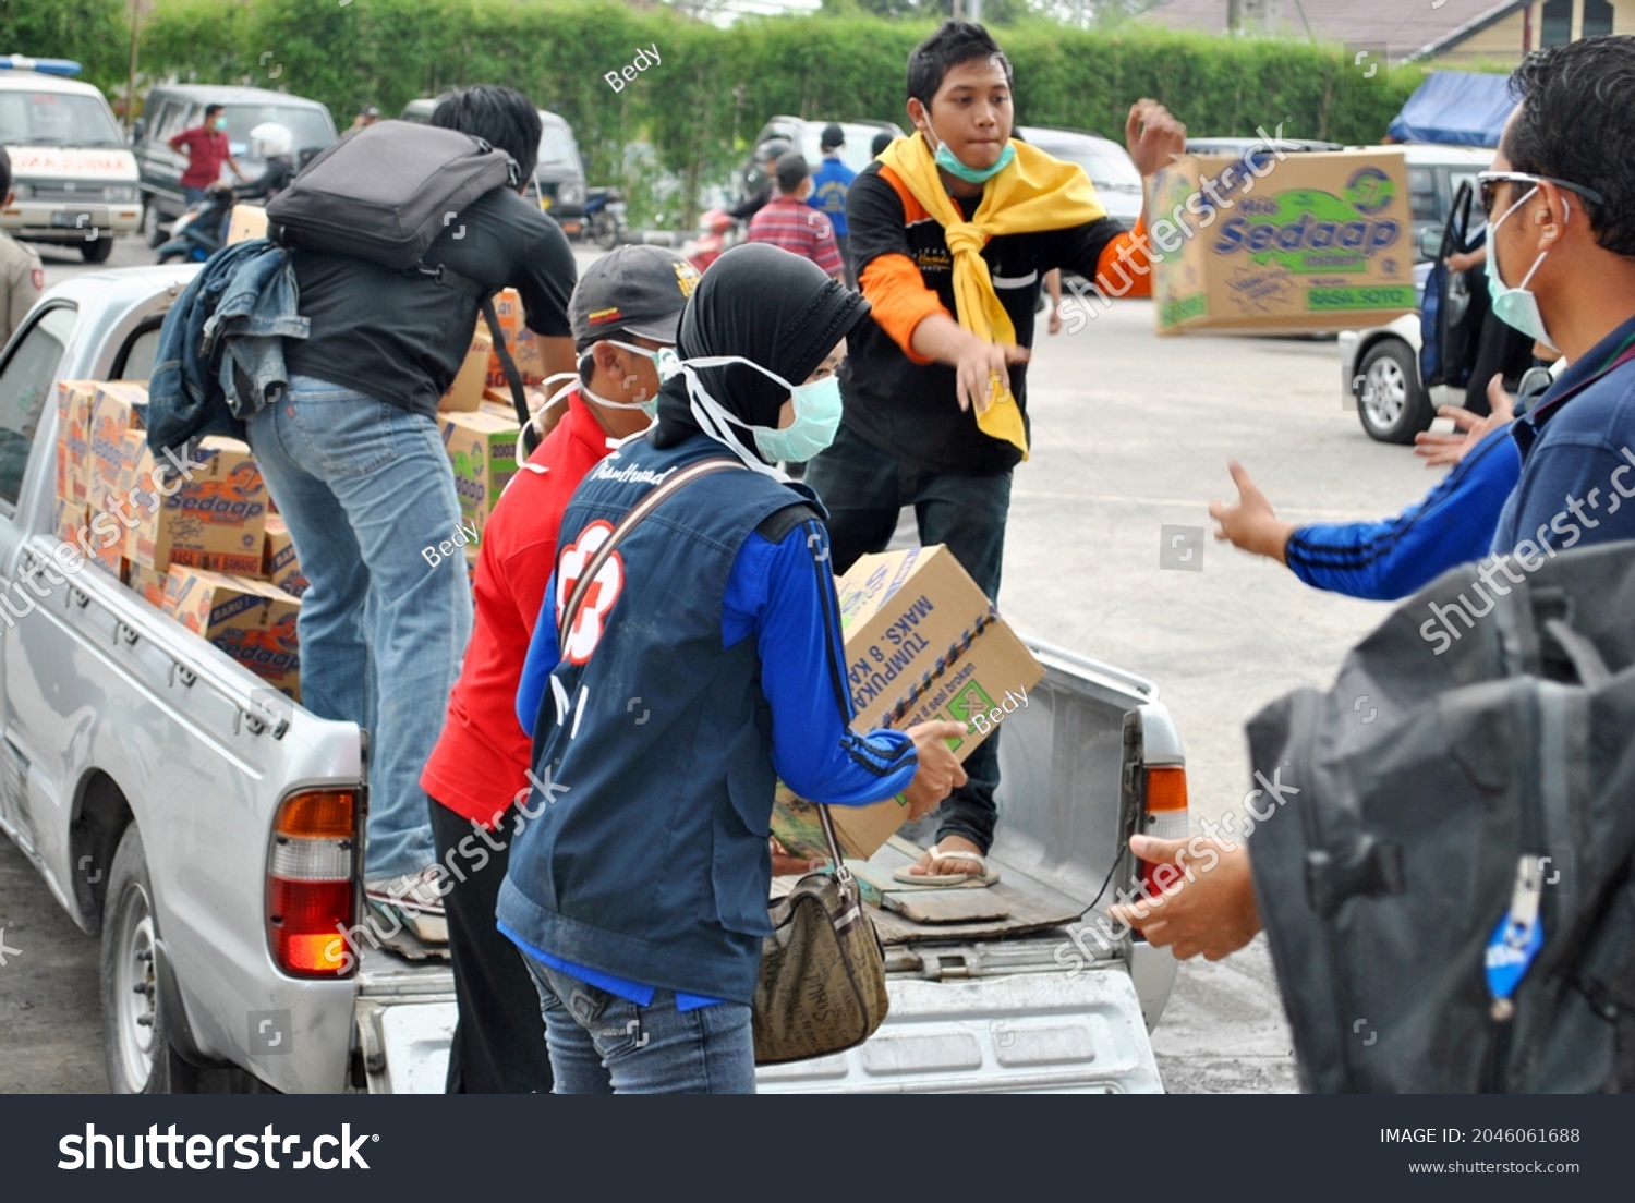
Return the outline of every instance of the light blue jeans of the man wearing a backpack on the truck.
[[[471,637],[455,474],[437,423],[340,384],[296,376],[257,414],[250,446],[311,588],[301,603],[301,698],[368,727],[366,879],[432,865],[420,770],[443,729]]]

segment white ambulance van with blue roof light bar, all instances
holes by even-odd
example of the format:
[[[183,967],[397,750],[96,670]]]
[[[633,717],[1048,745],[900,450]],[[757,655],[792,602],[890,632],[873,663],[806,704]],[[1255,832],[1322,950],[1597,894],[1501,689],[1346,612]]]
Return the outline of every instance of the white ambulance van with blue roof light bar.
[[[136,157],[101,92],[36,65],[46,64],[0,59],[0,145],[15,193],[0,229],[101,263],[142,216]]]

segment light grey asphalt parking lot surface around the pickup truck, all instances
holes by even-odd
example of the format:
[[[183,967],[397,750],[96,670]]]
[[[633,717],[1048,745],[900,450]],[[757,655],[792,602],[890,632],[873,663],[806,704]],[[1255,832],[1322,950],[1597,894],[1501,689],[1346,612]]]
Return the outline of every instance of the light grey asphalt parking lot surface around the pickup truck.
[[[51,283],[88,270],[72,252],[43,258]],[[123,239],[105,266],[152,262]],[[1033,454],[1015,472],[999,605],[1022,633],[1161,686],[1197,830],[1252,788],[1244,722],[1288,690],[1326,686],[1388,613],[1210,539],[1205,505],[1233,497],[1226,459],[1297,521],[1393,513],[1437,474],[1364,435],[1331,338],[1159,338],[1146,301],[1068,329],[1040,335],[1030,368]],[[96,943],[7,840],[0,927],[23,950],[0,968],[0,1093],[105,1090]],[[1153,1044],[1172,1092],[1295,1089],[1264,937],[1184,964]]]

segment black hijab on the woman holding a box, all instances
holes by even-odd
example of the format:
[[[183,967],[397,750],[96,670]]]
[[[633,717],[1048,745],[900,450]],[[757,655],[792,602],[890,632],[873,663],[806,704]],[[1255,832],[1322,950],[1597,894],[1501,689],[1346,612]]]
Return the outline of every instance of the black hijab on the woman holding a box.
[[[732,247],[710,265],[682,312],[675,353],[683,360],[741,355],[800,384],[824,361],[868,312],[868,302],[808,258],[764,242]],[[705,391],[721,407],[752,427],[777,427],[790,392],[770,376],[742,363],[700,368]],[[675,446],[700,427],[693,418],[687,378],[674,376],[659,389],[654,446]],[[732,436],[760,458],[749,432]]]

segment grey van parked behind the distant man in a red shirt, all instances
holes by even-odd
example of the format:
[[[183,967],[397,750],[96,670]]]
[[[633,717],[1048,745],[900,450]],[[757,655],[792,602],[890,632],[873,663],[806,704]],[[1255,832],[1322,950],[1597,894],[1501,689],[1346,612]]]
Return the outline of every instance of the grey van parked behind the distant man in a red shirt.
[[[188,157],[170,149],[170,139],[204,121],[204,106],[221,105],[227,118],[227,144],[245,177],[255,180],[267,163],[250,154],[250,131],[263,121],[289,129],[296,162],[304,152],[322,150],[335,141],[335,123],[316,100],[302,100],[267,88],[213,87],[201,83],[160,83],[147,93],[131,147],[142,173],[142,237],[149,247],[165,240],[164,227],[180,217],[188,204],[181,196],[181,173]],[[222,181],[232,173],[222,165]]]

